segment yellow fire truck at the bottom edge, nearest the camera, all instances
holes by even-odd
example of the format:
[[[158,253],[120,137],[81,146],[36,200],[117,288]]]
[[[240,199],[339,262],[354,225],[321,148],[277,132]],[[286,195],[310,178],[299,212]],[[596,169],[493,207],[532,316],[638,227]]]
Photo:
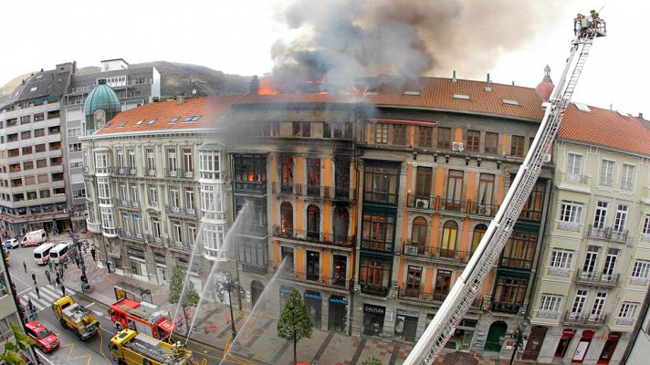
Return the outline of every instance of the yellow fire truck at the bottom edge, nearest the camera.
[[[109,346],[119,365],[196,365],[181,342],[169,344],[131,329],[118,332]]]

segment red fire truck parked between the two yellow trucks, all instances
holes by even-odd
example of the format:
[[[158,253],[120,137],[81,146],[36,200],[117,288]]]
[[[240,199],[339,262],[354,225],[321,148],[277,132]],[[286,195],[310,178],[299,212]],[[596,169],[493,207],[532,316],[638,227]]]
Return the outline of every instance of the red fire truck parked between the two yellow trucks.
[[[109,316],[118,330],[130,328],[156,339],[168,338],[176,328],[157,306],[127,298],[113,303],[109,308]]]

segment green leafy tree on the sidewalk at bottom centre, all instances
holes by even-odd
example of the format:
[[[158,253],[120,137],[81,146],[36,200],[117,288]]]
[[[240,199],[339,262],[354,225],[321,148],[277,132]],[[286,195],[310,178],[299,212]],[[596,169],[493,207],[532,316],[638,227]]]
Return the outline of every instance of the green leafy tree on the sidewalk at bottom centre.
[[[300,339],[311,339],[311,317],[305,302],[302,301],[300,293],[291,289],[280,317],[278,318],[278,337],[280,339],[293,340],[293,363],[297,364],[296,348]]]

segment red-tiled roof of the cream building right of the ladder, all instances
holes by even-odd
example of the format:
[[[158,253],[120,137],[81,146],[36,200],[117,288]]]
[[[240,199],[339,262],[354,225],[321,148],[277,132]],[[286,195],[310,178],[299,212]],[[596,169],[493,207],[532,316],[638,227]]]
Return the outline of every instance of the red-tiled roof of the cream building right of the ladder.
[[[571,103],[564,113],[559,137],[562,140],[581,141],[650,155],[650,130],[642,120],[621,115],[615,110],[589,106],[582,111]]]

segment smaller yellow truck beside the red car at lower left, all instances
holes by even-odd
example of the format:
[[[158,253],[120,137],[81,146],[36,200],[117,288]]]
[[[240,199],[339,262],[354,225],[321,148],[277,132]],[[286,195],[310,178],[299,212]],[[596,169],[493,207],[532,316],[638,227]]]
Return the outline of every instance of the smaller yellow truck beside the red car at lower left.
[[[54,316],[64,328],[75,331],[77,337],[86,340],[100,329],[100,322],[88,309],[75,303],[71,297],[59,297],[52,303]]]

